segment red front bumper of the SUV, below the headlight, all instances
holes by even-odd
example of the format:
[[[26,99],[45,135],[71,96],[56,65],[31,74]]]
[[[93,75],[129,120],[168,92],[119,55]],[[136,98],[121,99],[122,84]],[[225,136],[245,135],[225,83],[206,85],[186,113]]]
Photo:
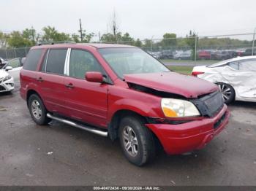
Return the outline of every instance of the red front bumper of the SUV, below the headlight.
[[[216,116],[211,118],[178,125],[146,124],[146,126],[158,137],[165,152],[173,155],[205,147],[225,128],[229,117],[230,112],[225,105]]]

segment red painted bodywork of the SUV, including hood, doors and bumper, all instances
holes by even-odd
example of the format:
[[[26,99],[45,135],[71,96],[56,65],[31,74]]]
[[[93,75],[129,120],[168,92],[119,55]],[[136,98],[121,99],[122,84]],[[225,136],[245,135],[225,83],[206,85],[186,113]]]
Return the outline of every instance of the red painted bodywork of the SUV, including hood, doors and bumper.
[[[186,98],[197,98],[212,93],[218,87],[211,82],[182,74],[129,74],[125,81],[119,79],[108,63],[97,51],[102,47],[130,47],[117,44],[57,44],[32,47],[42,48],[74,48],[91,52],[105,69],[113,85],[88,82],[56,74],[40,72],[40,59],[37,71],[20,71],[20,95],[26,99],[29,90],[36,91],[42,98],[49,112],[57,112],[81,120],[99,128],[108,128],[113,115],[120,110],[129,110],[143,117],[166,119],[161,109],[161,97],[130,89],[127,82],[143,85],[167,93],[178,94]],[[44,51],[44,52],[45,52]],[[42,81],[38,81],[39,77]],[[72,85],[72,87],[67,87]],[[214,130],[213,126],[227,112],[225,120]],[[178,125],[146,124],[158,137],[168,154],[179,154],[192,149],[202,148],[211,141],[227,124],[230,113],[227,106],[214,117],[190,117],[189,122]],[[171,119],[168,119],[171,120]]]

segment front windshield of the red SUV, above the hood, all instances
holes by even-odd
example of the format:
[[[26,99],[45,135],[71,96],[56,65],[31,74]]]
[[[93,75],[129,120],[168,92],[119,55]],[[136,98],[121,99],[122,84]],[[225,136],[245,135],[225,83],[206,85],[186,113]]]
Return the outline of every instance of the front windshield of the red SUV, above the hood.
[[[124,77],[124,74],[170,71],[162,63],[139,48],[102,48],[99,49],[99,53],[121,78]]]

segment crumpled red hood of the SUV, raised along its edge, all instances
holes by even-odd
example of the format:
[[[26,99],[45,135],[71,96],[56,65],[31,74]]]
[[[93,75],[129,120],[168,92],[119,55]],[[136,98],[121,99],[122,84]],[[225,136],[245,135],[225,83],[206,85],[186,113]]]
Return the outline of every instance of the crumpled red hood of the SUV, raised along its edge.
[[[197,98],[200,95],[218,90],[217,85],[214,85],[214,83],[176,72],[125,74],[124,79],[126,82],[150,87],[162,92],[182,95],[186,98]]]

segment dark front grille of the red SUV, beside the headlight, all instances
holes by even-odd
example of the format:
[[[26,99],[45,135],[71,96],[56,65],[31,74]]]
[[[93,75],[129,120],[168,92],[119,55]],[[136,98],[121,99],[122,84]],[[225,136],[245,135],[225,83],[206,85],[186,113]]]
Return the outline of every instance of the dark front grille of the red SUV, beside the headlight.
[[[223,107],[223,98],[222,98],[222,93],[215,92],[211,93],[210,95],[206,95],[203,98],[200,98],[201,101],[206,104],[206,107],[208,109],[208,112],[211,113],[211,115],[216,114],[219,112],[220,109]]]

